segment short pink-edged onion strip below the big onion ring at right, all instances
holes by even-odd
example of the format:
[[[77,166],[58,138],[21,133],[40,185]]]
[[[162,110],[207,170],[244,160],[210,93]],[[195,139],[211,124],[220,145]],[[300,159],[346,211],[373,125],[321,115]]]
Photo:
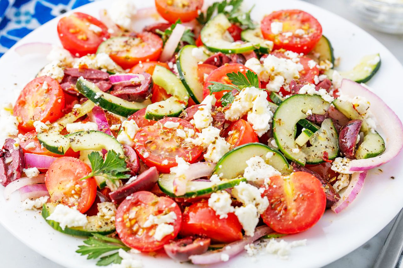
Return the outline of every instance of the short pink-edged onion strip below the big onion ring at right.
[[[364,186],[367,173],[368,171],[366,170],[364,172],[356,172],[351,175],[349,186],[347,186],[346,190],[340,194],[340,199],[332,206],[332,210],[334,212],[341,212],[342,210],[347,208],[347,206],[349,206],[351,202],[353,202],[353,200],[357,197],[358,193]]]

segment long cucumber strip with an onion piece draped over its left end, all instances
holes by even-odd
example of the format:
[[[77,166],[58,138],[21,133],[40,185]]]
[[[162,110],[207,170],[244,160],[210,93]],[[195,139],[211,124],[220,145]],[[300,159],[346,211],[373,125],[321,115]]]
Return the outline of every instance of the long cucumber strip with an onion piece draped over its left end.
[[[174,175],[172,174],[161,174],[158,178],[158,186],[161,191],[170,197],[179,198],[194,198],[196,196],[202,196],[204,194],[211,194],[220,190],[233,188],[237,186],[241,181],[246,181],[245,178],[237,179],[224,179],[220,182],[212,181],[189,181],[186,185],[186,194],[183,196],[176,196],[174,194]]]

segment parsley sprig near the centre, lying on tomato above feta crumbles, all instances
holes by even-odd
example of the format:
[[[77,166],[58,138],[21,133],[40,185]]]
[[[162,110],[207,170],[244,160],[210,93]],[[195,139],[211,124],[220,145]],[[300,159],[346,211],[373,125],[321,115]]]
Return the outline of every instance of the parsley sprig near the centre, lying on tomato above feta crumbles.
[[[226,76],[229,78],[229,80],[233,83],[233,85],[227,85],[223,84],[220,82],[210,82],[212,85],[208,86],[208,89],[210,90],[210,94],[213,92],[220,92],[220,91],[227,91],[229,92],[225,93],[221,97],[221,105],[223,107],[226,107],[230,103],[232,103],[235,99],[235,96],[233,94],[233,90],[241,91],[245,87],[259,87],[259,79],[258,75],[255,74],[254,72],[247,70],[245,74],[241,72],[230,72],[227,73]]]

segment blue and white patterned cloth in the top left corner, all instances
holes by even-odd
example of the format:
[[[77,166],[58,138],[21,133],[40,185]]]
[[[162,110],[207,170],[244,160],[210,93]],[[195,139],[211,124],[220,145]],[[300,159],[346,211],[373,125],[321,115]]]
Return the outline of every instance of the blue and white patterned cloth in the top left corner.
[[[0,57],[22,37],[93,0],[0,0]]]

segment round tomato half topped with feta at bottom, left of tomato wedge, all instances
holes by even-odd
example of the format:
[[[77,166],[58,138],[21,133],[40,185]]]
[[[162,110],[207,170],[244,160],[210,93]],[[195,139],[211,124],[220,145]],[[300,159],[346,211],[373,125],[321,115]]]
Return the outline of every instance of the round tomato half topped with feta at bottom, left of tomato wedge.
[[[144,227],[150,216],[163,216],[174,212],[172,233],[158,237],[157,224]],[[168,197],[158,197],[151,192],[140,191],[125,199],[116,211],[116,232],[127,246],[141,252],[151,252],[162,248],[174,239],[181,229],[182,213],[178,204]]]

